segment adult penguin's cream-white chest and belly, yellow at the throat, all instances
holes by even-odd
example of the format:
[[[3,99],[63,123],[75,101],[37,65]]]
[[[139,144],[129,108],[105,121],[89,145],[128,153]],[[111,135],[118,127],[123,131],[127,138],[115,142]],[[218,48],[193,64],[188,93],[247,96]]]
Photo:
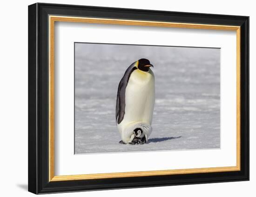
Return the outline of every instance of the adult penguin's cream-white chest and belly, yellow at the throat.
[[[151,125],[155,104],[155,77],[151,70],[134,70],[125,91],[124,123],[145,122]]]

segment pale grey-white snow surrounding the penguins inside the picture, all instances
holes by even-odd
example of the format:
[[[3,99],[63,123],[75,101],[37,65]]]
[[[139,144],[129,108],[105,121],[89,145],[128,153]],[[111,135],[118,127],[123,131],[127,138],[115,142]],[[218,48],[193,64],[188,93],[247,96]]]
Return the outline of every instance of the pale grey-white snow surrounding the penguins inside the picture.
[[[123,145],[115,125],[118,83],[139,58],[155,66],[153,132]],[[220,50],[75,44],[75,153],[220,148]]]

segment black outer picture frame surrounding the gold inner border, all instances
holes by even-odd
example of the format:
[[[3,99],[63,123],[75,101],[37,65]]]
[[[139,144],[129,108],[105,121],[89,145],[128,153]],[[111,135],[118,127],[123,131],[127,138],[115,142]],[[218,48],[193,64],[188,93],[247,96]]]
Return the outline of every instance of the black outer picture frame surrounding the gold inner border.
[[[48,15],[241,27],[241,170],[49,182]],[[28,191],[35,194],[249,180],[249,17],[35,3],[28,6]]]

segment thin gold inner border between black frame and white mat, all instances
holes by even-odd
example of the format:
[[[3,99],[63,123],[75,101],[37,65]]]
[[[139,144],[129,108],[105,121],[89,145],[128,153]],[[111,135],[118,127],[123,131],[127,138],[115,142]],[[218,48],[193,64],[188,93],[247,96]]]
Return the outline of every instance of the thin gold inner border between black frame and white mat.
[[[241,151],[240,150],[240,132],[241,132],[240,131],[240,117],[241,117],[240,26],[172,23],[172,22],[124,20],[124,19],[83,18],[83,17],[54,16],[54,15],[49,15],[48,21],[49,21],[49,62],[48,62],[49,63],[48,65],[49,66],[49,87],[48,87],[49,88],[49,181],[70,181],[70,180],[100,179],[100,178],[124,178],[124,177],[144,177],[144,176],[158,176],[158,175],[160,176],[160,175],[174,175],[174,174],[240,171],[240,151]],[[236,166],[55,176],[54,175],[54,22],[55,21],[236,31]]]

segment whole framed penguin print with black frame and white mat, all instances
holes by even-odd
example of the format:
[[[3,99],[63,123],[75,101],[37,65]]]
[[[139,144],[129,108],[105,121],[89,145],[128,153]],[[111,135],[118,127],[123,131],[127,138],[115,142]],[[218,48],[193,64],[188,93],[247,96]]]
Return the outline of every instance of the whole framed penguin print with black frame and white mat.
[[[28,6],[28,191],[249,180],[249,17]]]

